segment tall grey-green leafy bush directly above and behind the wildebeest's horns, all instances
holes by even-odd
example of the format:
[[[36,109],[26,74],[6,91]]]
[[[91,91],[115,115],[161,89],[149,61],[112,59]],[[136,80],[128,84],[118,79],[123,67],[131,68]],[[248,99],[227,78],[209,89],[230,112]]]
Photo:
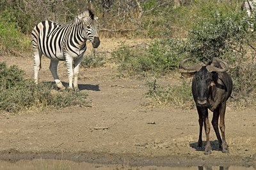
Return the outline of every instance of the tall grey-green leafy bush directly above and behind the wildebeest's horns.
[[[186,51],[191,57],[207,61],[211,57],[223,57],[241,50],[241,44],[248,41],[247,20],[243,13],[229,15],[220,11],[210,12],[209,18],[196,22],[188,34]],[[232,52],[232,53],[230,53]]]

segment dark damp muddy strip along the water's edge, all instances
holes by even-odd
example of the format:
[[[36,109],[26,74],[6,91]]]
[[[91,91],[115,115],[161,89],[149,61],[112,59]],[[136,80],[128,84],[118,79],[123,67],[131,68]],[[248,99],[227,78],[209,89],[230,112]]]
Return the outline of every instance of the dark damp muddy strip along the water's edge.
[[[77,152],[77,153],[21,153],[17,150],[6,150],[0,152],[0,160],[8,162],[17,162],[19,160],[70,160],[73,162],[87,162],[90,164],[129,164],[129,166],[166,166],[166,167],[190,167],[190,166],[244,166],[256,167],[256,154],[252,157],[240,157],[216,155],[195,157],[193,155],[168,155],[165,157],[145,157],[143,155],[132,154],[109,154],[109,153],[92,153],[92,152]]]

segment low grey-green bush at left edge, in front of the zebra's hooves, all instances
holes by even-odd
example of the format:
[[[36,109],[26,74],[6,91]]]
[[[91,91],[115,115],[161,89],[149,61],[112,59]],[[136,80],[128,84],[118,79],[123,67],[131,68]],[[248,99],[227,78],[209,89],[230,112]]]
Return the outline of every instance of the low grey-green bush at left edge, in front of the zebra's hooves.
[[[15,113],[31,108],[89,104],[84,92],[57,92],[51,84],[35,85],[32,80],[26,80],[24,75],[24,71],[17,66],[6,67],[5,63],[0,63],[0,110]]]

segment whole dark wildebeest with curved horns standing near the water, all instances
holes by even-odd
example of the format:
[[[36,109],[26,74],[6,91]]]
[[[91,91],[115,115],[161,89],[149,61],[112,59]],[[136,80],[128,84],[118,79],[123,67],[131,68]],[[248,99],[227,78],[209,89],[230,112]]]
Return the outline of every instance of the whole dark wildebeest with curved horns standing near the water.
[[[211,154],[210,128],[208,118],[208,109],[213,112],[212,126],[218,138],[219,147],[223,153],[228,153],[228,146],[225,140],[225,111],[226,102],[230,97],[233,89],[232,79],[227,73],[228,64],[223,62],[224,66],[218,60],[212,59],[206,66],[199,64],[194,66],[184,66],[184,62],[189,59],[182,60],[180,67],[186,70],[193,70],[190,73],[182,73],[182,76],[191,77],[192,94],[196,103],[196,109],[199,116],[199,139],[198,148],[202,148],[202,127],[204,124],[207,143],[205,145],[205,155]],[[218,129],[218,120],[220,117],[220,132]]]

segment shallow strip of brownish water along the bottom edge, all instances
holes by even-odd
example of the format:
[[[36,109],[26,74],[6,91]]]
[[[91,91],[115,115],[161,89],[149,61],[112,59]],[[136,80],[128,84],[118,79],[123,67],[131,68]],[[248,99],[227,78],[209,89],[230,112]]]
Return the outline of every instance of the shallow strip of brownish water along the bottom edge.
[[[88,162],[73,162],[70,160],[52,160],[52,159],[33,159],[33,160],[19,160],[17,162],[0,161],[0,170],[45,170],[45,169],[92,169],[92,170],[255,170],[256,166],[193,166],[193,167],[159,167],[159,166],[145,166],[145,167],[131,167],[129,162],[123,165],[105,165],[105,164],[90,164]]]

